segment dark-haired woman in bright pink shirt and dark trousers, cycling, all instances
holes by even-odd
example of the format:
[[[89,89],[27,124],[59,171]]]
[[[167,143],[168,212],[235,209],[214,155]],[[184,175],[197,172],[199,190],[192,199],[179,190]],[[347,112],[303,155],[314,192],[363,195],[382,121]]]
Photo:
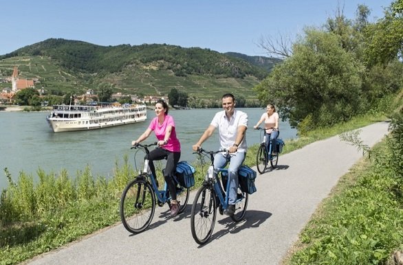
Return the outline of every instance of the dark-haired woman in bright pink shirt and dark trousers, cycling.
[[[166,104],[164,100],[158,100],[157,103],[155,103],[155,115],[157,115],[157,117],[153,118],[149,128],[147,128],[137,140],[132,141],[131,144],[134,146],[136,143],[144,141],[151,135],[151,132],[154,131],[158,139],[157,144],[160,148],[151,150],[149,154],[150,170],[155,177],[153,161],[162,160],[167,157],[164,178],[166,185],[168,185],[169,194],[172,197],[171,216],[176,216],[179,211],[179,203],[176,200],[176,185],[173,180],[173,175],[175,174],[176,164],[180,158],[180,143],[176,137],[175,122],[173,121],[173,117],[168,115],[168,104]]]

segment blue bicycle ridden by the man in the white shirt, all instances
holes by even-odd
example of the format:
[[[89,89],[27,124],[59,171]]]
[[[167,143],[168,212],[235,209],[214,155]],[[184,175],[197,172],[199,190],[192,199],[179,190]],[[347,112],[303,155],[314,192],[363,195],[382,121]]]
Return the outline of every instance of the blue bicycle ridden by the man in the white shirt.
[[[195,200],[193,201],[192,211],[190,214],[190,228],[192,229],[193,239],[198,244],[204,244],[213,234],[215,218],[217,216],[217,208],[219,213],[223,214],[224,209],[228,207],[228,194],[224,192],[219,180],[219,174],[214,174],[214,155],[219,152],[228,152],[227,150],[206,151],[199,148],[196,154],[199,154],[201,160],[203,157],[209,157],[211,165],[204,179],[203,185],[197,191]],[[229,190],[230,181],[225,181],[228,176],[228,170],[220,168],[221,177],[223,178],[223,186]],[[245,216],[246,207],[248,207],[248,193],[242,192],[238,187],[237,202],[235,204],[235,214],[230,216],[234,222],[239,222]]]

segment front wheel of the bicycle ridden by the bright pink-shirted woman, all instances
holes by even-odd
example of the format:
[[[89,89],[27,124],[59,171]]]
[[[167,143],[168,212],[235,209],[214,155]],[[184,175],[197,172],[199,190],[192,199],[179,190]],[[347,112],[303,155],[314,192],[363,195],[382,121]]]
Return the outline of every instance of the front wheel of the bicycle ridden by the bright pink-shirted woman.
[[[155,212],[155,194],[151,185],[135,179],[120,198],[120,219],[127,231],[140,233],[149,227]]]

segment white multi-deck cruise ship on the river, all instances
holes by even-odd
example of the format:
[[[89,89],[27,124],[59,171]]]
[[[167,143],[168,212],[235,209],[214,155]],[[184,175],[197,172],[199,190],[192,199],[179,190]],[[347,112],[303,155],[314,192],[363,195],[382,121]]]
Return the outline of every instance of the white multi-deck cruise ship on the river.
[[[54,105],[47,122],[54,133],[94,130],[123,124],[144,122],[145,105],[109,104],[103,106]]]

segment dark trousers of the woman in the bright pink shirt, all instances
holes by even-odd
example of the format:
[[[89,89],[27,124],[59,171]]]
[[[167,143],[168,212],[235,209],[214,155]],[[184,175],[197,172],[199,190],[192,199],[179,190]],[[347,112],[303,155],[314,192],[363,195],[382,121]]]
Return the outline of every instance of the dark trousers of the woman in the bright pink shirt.
[[[173,175],[175,174],[176,164],[177,162],[179,162],[180,159],[180,152],[171,152],[163,148],[155,148],[154,150],[151,150],[149,154],[150,170],[151,173],[153,173],[153,176],[157,178],[157,175],[155,174],[155,167],[153,161],[162,160],[165,158],[166,158],[166,165],[165,170],[163,170],[164,179],[166,185],[168,185],[169,194],[171,194],[171,198],[173,200],[176,200],[176,184],[175,181],[173,180]]]

